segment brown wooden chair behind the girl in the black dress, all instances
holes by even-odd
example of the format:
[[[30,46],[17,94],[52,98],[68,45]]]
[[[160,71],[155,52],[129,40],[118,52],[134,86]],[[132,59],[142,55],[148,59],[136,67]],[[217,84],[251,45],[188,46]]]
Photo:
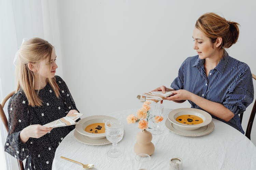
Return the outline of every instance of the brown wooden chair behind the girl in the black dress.
[[[5,113],[4,113],[3,108],[4,108],[4,105],[5,105],[6,101],[7,101],[9,98],[11,98],[11,97],[13,96],[14,92],[15,92],[15,91],[10,92],[10,93],[2,100],[2,102],[1,102],[1,104],[0,104],[0,117],[1,117],[1,120],[2,120],[2,122],[3,122],[3,124],[4,124],[5,129],[6,129],[7,132],[8,132],[8,120],[7,120],[6,116],[5,116]],[[18,159],[17,159],[17,163],[18,163],[19,170],[24,170],[23,162],[22,162],[21,160],[18,160]]]

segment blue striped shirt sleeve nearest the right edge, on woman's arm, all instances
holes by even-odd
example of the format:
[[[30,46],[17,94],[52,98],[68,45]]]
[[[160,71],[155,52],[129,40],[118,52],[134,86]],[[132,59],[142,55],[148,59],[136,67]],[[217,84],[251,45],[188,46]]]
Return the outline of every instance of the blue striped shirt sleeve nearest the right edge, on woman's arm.
[[[233,112],[234,115],[238,115],[243,113],[246,107],[253,102],[253,98],[252,73],[247,66],[228,89],[223,105]]]

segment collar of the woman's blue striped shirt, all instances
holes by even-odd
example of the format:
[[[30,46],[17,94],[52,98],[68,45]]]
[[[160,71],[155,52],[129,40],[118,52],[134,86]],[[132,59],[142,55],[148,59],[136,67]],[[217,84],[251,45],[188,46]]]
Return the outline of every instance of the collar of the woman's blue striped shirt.
[[[219,61],[219,63],[217,64],[217,66],[214,69],[216,69],[220,72],[223,72],[227,66],[227,63],[228,63],[228,53],[226,50],[224,50],[224,54],[223,54],[221,61]],[[204,59],[201,60],[198,56],[197,60],[193,64],[193,67],[200,68],[203,64],[204,64]]]

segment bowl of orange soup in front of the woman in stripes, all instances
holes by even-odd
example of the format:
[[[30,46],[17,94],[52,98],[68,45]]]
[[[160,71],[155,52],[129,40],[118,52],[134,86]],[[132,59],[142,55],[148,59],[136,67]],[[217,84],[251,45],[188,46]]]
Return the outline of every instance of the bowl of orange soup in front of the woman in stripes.
[[[208,125],[212,121],[212,116],[196,108],[178,108],[169,113],[168,119],[179,128],[195,130]]]

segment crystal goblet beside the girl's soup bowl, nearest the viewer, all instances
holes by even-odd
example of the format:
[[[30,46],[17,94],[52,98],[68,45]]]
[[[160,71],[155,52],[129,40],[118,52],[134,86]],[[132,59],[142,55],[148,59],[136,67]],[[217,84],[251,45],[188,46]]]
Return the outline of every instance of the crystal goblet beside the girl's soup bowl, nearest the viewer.
[[[123,152],[117,148],[117,143],[122,140],[124,135],[124,125],[119,120],[108,120],[105,122],[106,138],[112,143],[112,148],[108,151],[108,156],[119,158]]]

